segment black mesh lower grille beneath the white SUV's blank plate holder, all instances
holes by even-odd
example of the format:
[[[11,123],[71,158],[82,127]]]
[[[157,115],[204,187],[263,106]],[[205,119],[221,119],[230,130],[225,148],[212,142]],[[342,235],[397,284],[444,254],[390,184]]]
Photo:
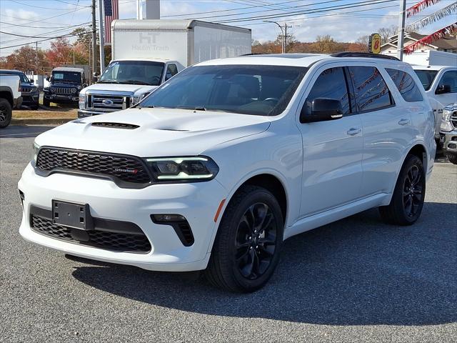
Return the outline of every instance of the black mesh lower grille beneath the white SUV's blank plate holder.
[[[71,243],[118,252],[147,253],[151,251],[151,243],[142,232],[141,234],[127,234],[97,229],[91,231],[72,229],[35,214],[31,215],[30,222],[31,229],[35,232]]]

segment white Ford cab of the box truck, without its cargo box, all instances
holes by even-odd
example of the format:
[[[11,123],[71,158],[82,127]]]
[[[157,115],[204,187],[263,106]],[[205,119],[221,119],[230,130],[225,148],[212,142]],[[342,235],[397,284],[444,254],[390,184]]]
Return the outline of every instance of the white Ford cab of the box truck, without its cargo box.
[[[183,69],[178,61],[165,59],[111,61],[99,81],[79,93],[78,116],[128,109]]]

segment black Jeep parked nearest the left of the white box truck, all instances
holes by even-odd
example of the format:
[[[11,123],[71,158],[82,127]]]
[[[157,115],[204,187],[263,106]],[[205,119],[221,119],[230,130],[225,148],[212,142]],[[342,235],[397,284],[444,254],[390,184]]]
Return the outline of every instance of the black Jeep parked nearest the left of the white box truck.
[[[78,102],[79,91],[86,87],[84,83],[84,69],[59,67],[54,68],[51,77],[46,78],[50,82],[48,87],[43,89],[43,104],[76,104]]]

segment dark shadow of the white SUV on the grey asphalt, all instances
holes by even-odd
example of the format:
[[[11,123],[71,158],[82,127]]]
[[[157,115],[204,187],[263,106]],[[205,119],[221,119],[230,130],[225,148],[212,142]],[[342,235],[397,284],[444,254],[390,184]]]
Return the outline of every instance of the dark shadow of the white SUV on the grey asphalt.
[[[426,203],[415,225],[395,227],[380,224],[371,209],[292,237],[270,282],[252,294],[224,292],[185,273],[86,259],[77,259],[85,263],[75,263],[73,275],[120,297],[199,314],[328,325],[455,322],[457,218],[451,211],[455,204]]]

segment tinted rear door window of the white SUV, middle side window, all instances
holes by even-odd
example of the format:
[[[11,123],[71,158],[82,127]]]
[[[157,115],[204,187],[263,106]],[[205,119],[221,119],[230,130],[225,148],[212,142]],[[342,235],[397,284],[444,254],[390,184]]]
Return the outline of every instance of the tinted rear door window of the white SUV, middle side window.
[[[393,104],[388,86],[374,66],[349,66],[359,111],[376,111]]]

